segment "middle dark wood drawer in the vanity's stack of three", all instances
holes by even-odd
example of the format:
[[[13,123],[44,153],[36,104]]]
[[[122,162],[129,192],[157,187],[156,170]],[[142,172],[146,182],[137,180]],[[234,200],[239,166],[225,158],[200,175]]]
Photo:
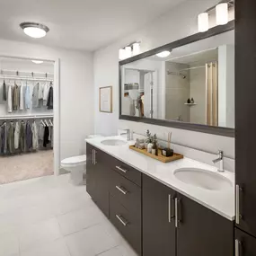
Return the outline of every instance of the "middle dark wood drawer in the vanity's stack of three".
[[[141,214],[141,188],[118,172],[110,171],[110,194],[119,200],[128,211]]]

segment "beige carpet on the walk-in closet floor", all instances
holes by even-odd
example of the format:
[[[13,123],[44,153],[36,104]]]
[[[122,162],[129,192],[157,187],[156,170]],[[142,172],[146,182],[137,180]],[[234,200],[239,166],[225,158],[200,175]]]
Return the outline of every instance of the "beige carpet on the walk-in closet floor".
[[[53,174],[53,151],[0,156],[0,184]]]

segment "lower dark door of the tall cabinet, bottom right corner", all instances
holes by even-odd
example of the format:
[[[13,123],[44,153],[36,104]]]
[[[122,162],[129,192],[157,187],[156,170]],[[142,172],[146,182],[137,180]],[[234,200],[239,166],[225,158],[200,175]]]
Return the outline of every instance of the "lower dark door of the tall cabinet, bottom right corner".
[[[255,256],[256,238],[235,228],[235,256]]]

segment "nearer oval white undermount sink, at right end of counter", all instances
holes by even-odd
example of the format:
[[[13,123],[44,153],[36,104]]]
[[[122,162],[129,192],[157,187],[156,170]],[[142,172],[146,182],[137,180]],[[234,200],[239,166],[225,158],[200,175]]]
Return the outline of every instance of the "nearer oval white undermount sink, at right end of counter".
[[[227,190],[233,187],[232,181],[224,176],[197,168],[181,168],[174,171],[174,176],[187,184],[205,190]]]

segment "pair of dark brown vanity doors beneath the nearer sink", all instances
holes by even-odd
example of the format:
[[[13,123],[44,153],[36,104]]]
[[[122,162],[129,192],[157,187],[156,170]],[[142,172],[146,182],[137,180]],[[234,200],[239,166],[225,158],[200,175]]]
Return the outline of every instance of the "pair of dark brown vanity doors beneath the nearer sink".
[[[144,256],[233,256],[234,223],[143,175]]]

